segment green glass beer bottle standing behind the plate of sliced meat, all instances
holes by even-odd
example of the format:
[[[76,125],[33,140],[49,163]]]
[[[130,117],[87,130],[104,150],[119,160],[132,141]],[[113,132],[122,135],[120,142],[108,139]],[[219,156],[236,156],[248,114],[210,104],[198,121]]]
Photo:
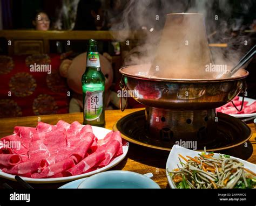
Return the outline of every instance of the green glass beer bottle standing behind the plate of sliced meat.
[[[84,124],[105,126],[105,76],[100,70],[97,41],[90,39],[87,47],[86,69],[82,76]]]

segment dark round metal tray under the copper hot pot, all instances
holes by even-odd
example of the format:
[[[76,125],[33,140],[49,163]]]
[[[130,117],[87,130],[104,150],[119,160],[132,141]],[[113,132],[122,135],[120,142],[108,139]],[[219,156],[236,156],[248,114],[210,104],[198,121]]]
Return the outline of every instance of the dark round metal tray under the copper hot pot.
[[[208,141],[207,144],[200,144],[200,140],[198,140],[197,150],[203,150],[204,146],[206,146],[207,151],[225,150],[241,145],[251,138],[250,127],[241,122],[241,120],[224,113],[218,113],[217,116],[218,123],[215,137]],[[176,144],[176,140],[165,141],[149,134],[146,129],[144,110],[133,112],[119,119],[114,124],[113,130],[119,130],[122,137],[131,143],[158,150],[170,151],[172,146]]]

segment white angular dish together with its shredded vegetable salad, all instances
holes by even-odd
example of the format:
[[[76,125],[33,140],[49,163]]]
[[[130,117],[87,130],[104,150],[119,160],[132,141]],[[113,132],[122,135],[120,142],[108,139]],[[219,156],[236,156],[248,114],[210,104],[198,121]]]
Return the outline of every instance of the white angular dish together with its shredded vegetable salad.
[[[166,162],[171,188],[256,188],[256,165],[225,154],[174,145]]]

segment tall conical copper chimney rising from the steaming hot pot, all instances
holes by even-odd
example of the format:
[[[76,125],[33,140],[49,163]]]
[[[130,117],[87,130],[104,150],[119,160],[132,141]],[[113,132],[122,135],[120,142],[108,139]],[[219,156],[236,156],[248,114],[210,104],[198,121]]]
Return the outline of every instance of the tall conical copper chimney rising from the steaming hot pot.
[[[172,79],[212,78],[212,73],[205,74],[205,65],[210,63],[203,15],[167,15],[149,75]]]

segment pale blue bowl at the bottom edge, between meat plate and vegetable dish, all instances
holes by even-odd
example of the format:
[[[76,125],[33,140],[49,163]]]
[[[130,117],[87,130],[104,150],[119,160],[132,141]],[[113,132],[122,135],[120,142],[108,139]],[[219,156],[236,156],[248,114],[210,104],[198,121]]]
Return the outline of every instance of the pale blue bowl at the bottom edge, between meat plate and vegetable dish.
[[[78,188],[140,189],[155,188],[159,185],[139,173],[129,171],[108,171],[92,175],[79,184]]]

